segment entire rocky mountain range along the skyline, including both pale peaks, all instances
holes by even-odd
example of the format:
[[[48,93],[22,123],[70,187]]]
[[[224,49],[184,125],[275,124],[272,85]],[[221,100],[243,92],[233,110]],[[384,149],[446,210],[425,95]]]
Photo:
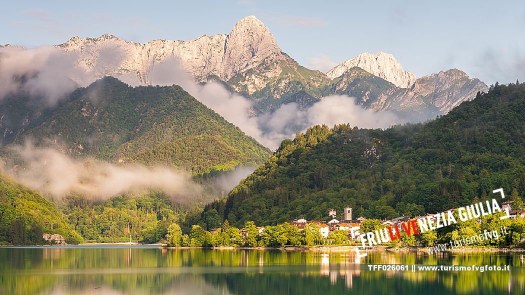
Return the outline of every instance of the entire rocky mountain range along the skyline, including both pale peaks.
[[[257,99],[259,112],[289,102],[305,107],[330,94],[344,93],[372,110],[425,109],[429,119],[488,90],[485,83],[457,69],[416,78],[385,52],[364,52],[327,73],[310,70],[282,52],[255,16],[239,20],[228,35],[203,35],[191,41],[141,44],[102,35],[74,37],[56,47],[78,54],[77,66],[96,77],[122,77],[144,85],[154,82],[150,74],[155,65],[176,59],[197,82],[223,81],[230,90]],[[373,77],[355,75],[355,67]]]

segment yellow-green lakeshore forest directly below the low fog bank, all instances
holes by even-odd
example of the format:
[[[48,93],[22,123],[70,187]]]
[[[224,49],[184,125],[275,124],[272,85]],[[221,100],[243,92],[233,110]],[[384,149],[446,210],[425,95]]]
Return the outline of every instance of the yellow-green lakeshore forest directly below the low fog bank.
[[[181,221],[180,205],[159,192],[127,194],[101,204],[69,196],[59,202],[66,221],[87,241],[153,244],[163,239],[167,227]]]

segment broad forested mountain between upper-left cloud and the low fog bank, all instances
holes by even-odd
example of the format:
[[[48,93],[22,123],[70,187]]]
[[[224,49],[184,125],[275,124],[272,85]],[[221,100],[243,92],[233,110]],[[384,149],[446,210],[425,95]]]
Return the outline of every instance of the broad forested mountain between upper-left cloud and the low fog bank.
[[[178,86],[133,88],[106,77],[71,97],[14,143],[32,138],[73,156],[161,163],[194,174],[260,164],[270,155]]]

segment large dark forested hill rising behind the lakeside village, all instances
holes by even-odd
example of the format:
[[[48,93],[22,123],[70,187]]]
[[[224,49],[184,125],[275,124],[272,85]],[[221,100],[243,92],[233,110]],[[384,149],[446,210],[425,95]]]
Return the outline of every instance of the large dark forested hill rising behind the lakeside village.
[[[226,199],[206,206],[201,225],[248,220],[271,225],[321,219],[329,208],[354,217],[415,216],[525,193],[525,84],[498,85],[427,123],[386,130],[314,126],[285,140]]]

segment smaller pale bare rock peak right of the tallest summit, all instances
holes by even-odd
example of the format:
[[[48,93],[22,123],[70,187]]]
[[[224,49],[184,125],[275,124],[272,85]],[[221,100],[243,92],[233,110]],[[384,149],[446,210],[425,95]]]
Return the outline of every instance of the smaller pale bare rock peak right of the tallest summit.
[[[352,67],[360,67],[401,88],[411,88],[416,81],[414,73],[403,70],[401,62],[395,59],[393,55],[382,51],[374,55],[370,52],[363,52],[352,59],[345,60],[342,64],[328,71],[327,76],[331,79],[337,78]]]

